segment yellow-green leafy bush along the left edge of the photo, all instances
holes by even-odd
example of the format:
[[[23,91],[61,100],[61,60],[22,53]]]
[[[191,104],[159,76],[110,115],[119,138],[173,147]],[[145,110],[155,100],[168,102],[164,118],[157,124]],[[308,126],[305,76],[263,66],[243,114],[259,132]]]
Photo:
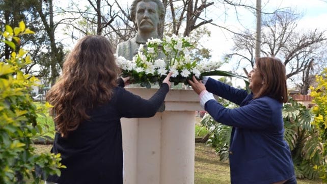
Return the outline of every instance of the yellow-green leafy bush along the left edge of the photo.
[[[16,49],[13,40],[19,43],[19,36],[31,33],[21,21],[19,28],[6,25],[1,41]],[[30,56],[23,49],[0,62],[0,183],[23,183],[23,178],[31,178],[31,174],[39,183],[40,168],[45,176],[60,175],[59,168],[65,168],[60,164],[60,154],[35,153],[32,140],[45,133],[36,119],[49,104],[37,108],[33,103],[30,93],[37,79],[19,70],[29,63]]]

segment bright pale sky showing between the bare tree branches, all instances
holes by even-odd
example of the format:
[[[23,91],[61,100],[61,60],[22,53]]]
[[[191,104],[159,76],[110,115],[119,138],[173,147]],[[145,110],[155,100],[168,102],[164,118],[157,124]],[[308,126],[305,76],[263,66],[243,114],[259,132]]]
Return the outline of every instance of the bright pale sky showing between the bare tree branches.
[[[81,4],[83,4],[83,2],[87,2],[86,0],[77,1],[81,2]],[[117,1],[123,8],[130,6],[132,2],[132,0]],[[242,0],[242,2],[246,2],[247,5],[251,5],[253,7],[255,7],[256,4],[256,0]],[[272,12],[276,9],[293,8],[296,9],[297,12],[303,13],[302,19],[298,22],[299,29],[327,30],[327,0],[262,0],[261,4],[263,12]],[[212,18],[214,23],[223,25],[235,32],[240,32],[244,29],[255,29],[256,17],[250,11],[238,9],[238,17],[236,17],[235,11],[232,7],[229,7],[229,9],[224,9],[224,7],[219,6],[220,4],[216,3],[213,6],[210,6],[205,12],[205,15],[208,18]],[[227,13],[225,13],[225,10],[227,10]],[[204,14],[202,14],[202,16],[203,15]],[[233,46],[233,35],[216,27],[215,25],[206,24],[206,27],[211,32],[211,37],[203,37],[200,42],[211,50],[212,60],[222,61],[223,56],[230,52]],[[236,62],[237,61],[231,61],[229,64],[223,65],[220,69],[235,71],[238,74],[244,75],[244,72],[241,69],[235,69]],[[251,66],[244,67],[246,67],[248,71],[252,69]],[[237,81],[236,79],[235,81],[232,81],[232,83],[235,86],[243,86],[243,82]]]

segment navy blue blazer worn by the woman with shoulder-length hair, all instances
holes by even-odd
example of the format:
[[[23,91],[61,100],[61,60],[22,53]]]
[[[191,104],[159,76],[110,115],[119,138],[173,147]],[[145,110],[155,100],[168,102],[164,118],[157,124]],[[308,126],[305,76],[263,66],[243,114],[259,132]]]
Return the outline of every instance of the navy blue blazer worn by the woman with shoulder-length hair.
[[[267,184],[294,175],[289,146],[284,140],[283,104],[268,96],[253,99],[246,90],[235,89],[208,78],[207,91],[238,104],[227,109],[215,100],[205,110],[217,122],[233,126],[230,141],[232,184]]]

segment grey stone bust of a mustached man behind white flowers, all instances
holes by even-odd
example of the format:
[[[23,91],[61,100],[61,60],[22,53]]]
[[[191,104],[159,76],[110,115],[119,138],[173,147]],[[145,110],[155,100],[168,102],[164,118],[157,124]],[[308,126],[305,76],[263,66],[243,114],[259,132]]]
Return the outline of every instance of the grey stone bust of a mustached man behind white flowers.
[[[145,44],[151,38],[159,38],[158,28],[165,18],[165,11],[160,0],[134,0],[130,17],[138,32],[134,38],[119,43],[116,54],[132,61],[132,58],[138,54],[140,44]]]

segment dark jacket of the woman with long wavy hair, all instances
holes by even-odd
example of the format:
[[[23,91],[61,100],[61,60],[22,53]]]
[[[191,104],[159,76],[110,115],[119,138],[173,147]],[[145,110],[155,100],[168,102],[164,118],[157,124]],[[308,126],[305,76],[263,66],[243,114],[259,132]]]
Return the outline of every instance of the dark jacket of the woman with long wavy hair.
[[[61,153],[61,176],[46,180],[60,184],[123,184],[123,148],[120,119],[155,115],[169,91],[163,83],[150,98],[143,99],[124,88],[114,88],[112,98],[88,112],[67,138],[56,134],[51,152]],[[126,166],[130,167],[130,166]]]

